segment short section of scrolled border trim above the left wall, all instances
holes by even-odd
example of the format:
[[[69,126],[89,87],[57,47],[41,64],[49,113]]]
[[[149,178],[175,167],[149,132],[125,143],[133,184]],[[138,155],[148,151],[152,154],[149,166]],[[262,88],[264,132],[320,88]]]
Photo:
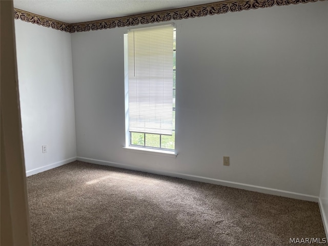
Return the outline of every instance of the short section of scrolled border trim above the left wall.
[[[14,9],[14,18],[23,20],[24,22],[29,22],[43,27],[51,27],[55,30],[71,33],[70,24],[59,22],[59,20],[50,19],[42,15],[33,14],[25,10]]]

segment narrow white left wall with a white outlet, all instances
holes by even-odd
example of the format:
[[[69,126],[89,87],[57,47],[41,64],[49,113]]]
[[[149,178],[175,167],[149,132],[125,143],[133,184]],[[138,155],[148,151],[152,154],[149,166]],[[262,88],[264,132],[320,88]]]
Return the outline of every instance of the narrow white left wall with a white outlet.
[[[15,20],[28,175],[76,157],[71,35]],[[48,152],[42,153],[42,145]],[[73,158],[73,159],[71,159]]]

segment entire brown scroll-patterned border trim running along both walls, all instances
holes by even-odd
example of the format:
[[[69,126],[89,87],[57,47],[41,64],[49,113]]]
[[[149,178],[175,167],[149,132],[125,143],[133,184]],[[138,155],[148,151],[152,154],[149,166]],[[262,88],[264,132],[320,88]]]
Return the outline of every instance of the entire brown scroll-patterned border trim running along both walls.
[[[93,22],[67,24],[50,19],[44,16],[26,12],[24,10],[14,9],[15,19],[21,19],[25,22],[51,27],[56,30],[69,33],[88,32],[91,30],[111,29],[115,27],[129,27],[139,24],[151,24],[159,22],[169,22],[177,19],[188,19],[214,14],[224,14],[228,12],[239,12],[242,10],[269,8],[273,6],[284,6],[291,4],[305,4],[310,2],[327,0],[226,0],[222,2],[202,4],[191,7],[165,10],[160,12],[151,12],[145,14],[130,15],[125,17],[100,19]]]

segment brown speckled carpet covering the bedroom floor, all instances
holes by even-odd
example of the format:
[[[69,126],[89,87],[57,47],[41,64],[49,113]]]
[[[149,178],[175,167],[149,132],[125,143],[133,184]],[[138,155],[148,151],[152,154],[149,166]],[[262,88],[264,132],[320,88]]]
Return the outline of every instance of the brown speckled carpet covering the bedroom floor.
[[[27,186],[34,246],[301,245],[290,237],[325,238],[316,202],[209,183],[74,161],[29,176]]]

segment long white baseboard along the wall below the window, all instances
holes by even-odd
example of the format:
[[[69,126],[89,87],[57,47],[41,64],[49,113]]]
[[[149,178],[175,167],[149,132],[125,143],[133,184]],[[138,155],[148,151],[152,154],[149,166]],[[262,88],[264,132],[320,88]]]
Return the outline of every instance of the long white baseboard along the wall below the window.
[[[116,167],[116,168],[124,168],[124,169],[130,169],[130,170],[135,170],[135,171],[147,172],[147,173],[154,173],[154,174],[159,174],[159,175],[183,178],[183,179],[200,181],[200,182],[205,182],[205,183],[213,183],[215,185],[220,185],[220,186],[228,186],[228,187],[238,188],[238,189],[242,189],[242,190],[261,192],[261,193],[265,193],[265,194],[295,198],[295,199],[306,200],[306,201],[318,202],[318,198],[319,198],[317,196],[312,196],[312,195],[306,195],[306,194],[290,192],[290,191],[282,191],[282,190],[260,187],[260,186],[247,185],[245,183],[238,183],[238,182],[220,180],[220,179],[215,179],[215,178],[207,178],[207,177],[201,177],[201,176],[183,174],[183,173],[175,173],[175,172],[162,172],[162,171],[156,171],[156,170],[151,170],[151,169],[146,169],[146,168],[138,168],[138,167],[121,164],[121,163],[116,163],[116,162],[111,162],[111,161],[84,158],[84,157],[80,157],[80,156],[78,156],[76,158],[77,158],[77,160],[80,160],[80,161],[90,162],[90,163],[94,163],[94,164],[98,164],[98,165],[104,165],[104,166],[110,166],[110,167]]]

